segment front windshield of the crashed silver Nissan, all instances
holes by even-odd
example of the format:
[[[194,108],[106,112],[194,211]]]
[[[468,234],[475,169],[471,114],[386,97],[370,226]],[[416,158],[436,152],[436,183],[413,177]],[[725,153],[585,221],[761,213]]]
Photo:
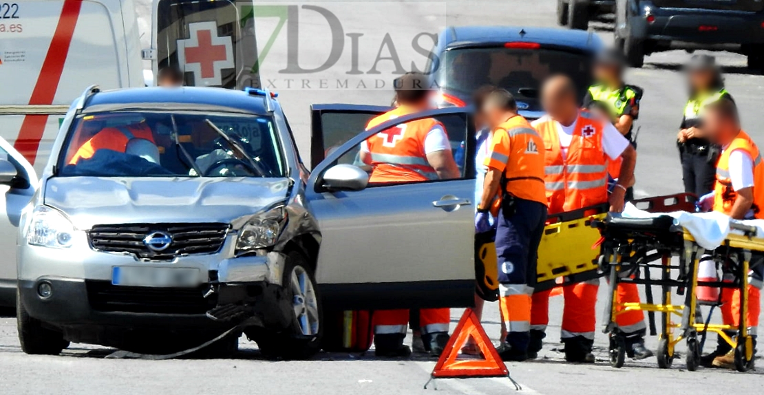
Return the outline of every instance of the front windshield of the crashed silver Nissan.
[[[273,118],[196,112],[80,115],[60,176],[282,177]]]

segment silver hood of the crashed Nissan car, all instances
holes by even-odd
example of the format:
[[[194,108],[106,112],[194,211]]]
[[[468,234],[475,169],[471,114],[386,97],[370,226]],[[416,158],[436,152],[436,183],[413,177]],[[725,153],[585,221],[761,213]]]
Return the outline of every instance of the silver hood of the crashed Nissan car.
[[[76,228],[162,222],[225,222],[286,199],[291,181],[246,177],[56,177],[44,203],[60,209]]]

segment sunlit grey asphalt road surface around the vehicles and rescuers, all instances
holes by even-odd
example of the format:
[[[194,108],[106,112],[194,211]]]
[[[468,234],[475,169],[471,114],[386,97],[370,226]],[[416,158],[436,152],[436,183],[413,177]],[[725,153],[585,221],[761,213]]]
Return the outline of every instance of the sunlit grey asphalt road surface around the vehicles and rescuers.
[[[418,5],[422,6],[422,5]],[[552,0],[505,0],[501,2],[462,2],[446,4],[448,24],[523,24],[552,26]],[[363,8],[359,12],[362,12]],[[367,12],[372,12],[367,11]],[[369,17],[369,15],[362,15]],[[416,25],[421,14],[400,14],[401,24]],[[605,28],[597,24],[597,28]],[[598,34],[610,41],[609,31]],[[261,40],[261,39],[260,39]],[[262,42],[261,42],[262,44]],[[745,59],[731,53],[719,53],[727,71],[728,89],[742,108],[743,125],[757,141],[764,142],[759,98],[764,77],[749,75]],[[681,172],[673,143],[675,130],[685,102],[681,64],[689,55],[684,52],[661,53],[649,57],[641,70],[630,70],[630,83],[642,86],[646,93],[639,119],[639,160],[637,190],[639,195],[676,193],[681,190]],[[391,92],[355,90],[293,89],[281,91],[280,100],[290,114],[299,148],[309,151],[309,112],[311,103],[355,102],[389,104]],[[601,287],[600,301],[604,300]],[[601,303],[602,304],[602,303]],[[601,306],[598,306],[601,310]],[[675,361],[671,370],[659,370],[655,358],[626,361],[623,369],[607,365],[606,337],[597,334],[597,364],[575,365],[563,361],[558,351],[562,299],[553,298],[548,342],[542,358],[522,364],[508,364],[512,376],[523,385],[523,393],[579,394],[620,393],[754,393],[762,388],[761,371],[738,374],[732,371],[684,370],[684,362]],[[454,311],[453,322],[461,311]],[[484,326],[498,341],[498,312],[495,304],[486,307]],[[134,361],[105,359],[114,350],[89,345],[72,345],[58,357],[24,355],[16,338],[13,318],[0,319],[0,393],[294,393],[294,394],[413,394],[425,393],[425,384],[435,361],[410,358],[378,361],[371,355],[322,354],[314,361],[273,362],[259,355],[257,346],[241,340],[236,358],[226,360]],[[762,332],[759,328],[759,332]],[[649,338],[656,348],[656,338]],[[683,348],[680,348],[680,352]],[[511,393],[507,379],[443,380],[442,393],[483,395]]]

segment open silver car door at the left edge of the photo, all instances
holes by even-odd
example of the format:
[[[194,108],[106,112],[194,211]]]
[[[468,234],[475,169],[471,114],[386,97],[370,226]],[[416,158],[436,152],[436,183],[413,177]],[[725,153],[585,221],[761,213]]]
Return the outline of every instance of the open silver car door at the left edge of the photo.
[[[21,211],[37,189],[37,174],[24,156],[0,138],[0,306],[15,306],[16,238]]]

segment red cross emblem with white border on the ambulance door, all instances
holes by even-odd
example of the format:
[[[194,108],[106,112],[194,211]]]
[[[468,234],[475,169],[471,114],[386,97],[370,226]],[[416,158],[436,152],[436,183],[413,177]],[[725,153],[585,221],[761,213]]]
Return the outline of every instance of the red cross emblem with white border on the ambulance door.
[[[234,68],[231,37],[218,36],[218,24],[189,24],[189,38],[178,40],[178,62],[193,73],[195,86],[222,86],[222,70]]]

